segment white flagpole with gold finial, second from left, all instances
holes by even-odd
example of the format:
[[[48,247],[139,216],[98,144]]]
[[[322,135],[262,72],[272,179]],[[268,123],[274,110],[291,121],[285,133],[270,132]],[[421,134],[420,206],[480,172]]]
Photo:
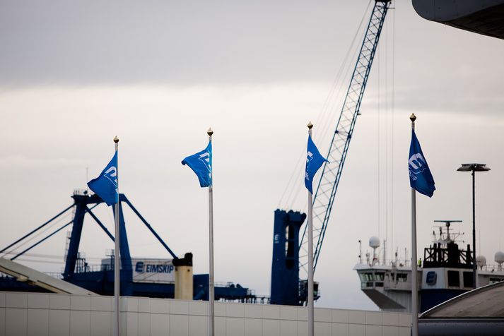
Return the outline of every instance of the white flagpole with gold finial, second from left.
[[[213,131],[206,132],[212,142]],[[213,169],[213,167],[211,167]],[[213,172],[211,173],[213,174]],[[209,186],[209,336],[215,335],[215,294],[213,288],[213,176]]]

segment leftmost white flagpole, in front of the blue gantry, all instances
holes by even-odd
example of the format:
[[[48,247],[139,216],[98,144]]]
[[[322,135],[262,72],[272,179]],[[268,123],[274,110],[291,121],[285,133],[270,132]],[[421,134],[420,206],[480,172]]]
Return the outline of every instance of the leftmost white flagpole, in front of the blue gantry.
[[[119,138],[117,136],[114,138],[115,151],[119,149]],[[119,155],[117,156],[117,203],[115,203],[115,253],[114,253],[114,303],[115,303],[115,335],[121,335],[121,321],[120,321],[120,311],[121,304],[119,301],[120,296],[120,283],[121,283],[121,261],[119,258]]]

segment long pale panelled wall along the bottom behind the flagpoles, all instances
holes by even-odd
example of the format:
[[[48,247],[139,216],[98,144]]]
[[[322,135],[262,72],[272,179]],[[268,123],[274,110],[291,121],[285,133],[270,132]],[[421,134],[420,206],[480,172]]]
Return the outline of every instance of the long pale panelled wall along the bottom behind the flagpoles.
[[[203,301],[122,298],[122,335],[205,336]],[[112,335],[112,298],[0,292],[0,336]],[[409,336],[407,313],[315,309],[317,336]],[[216,335],[307,335],[307,309],[216,303]]]

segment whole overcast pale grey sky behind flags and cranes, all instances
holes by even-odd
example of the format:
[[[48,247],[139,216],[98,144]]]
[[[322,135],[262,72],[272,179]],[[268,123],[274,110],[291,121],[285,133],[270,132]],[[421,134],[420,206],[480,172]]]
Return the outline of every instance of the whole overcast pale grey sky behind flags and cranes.
[[[409,1],[394,2],[315,273],[317,306],[376,309],[352,270],[358,240],[365,253],[370,236],[387,238],[387,258],[395,248],[404,258],[410,246],[411,113],[438,188],[417,198],[419,256],[433,220],[463,220],[457,229],[471,240],[470,174],[455,172],[466,162],[492,169],[476,176],[481,253],[491,262],[504,249],[503,41],[423,20]],[[206,146],[211,126],[216,281],[269,294],[274,210],[307,208],[303,188],[288,197],[289,178],[303,165],[308,121],[327,152],[341,104],[326,110],[324,102],[367,6],[0,1],[0,246],[66,208],[74,188],[110,160],[117,135],[121,192],[177,255],[194,253],[195,273],[208,272],[207,190],[180,161]],[[336,98],[348,76],[338,83]],[[112,230],[110,210],[96,213]],[[126,216],[132,256],[168,258]],[[53,263],[25,263],[59,271],[65,235],[30,251]],[[86,221],[81,251],[90,262],[112,247]]]

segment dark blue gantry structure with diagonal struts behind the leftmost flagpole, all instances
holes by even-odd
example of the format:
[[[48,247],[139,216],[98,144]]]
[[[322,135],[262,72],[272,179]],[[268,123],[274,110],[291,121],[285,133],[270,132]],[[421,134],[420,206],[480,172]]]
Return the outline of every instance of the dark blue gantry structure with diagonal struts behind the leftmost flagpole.
[[[55,215],[33,231],[25,234],[25,236],[6,246],[0,251],[0,253],[13,251],[16,248],[17,244],[23,243],[23,241],[27,241],[28,239],[30,239],[30,237],[43,232],[42,229],[47,227],[49,224],[54,223],[54,221],[58,220],[62,215],[64,215],[64,213],[72,210],[74,212],[72,220],[61,225],[61,227],[54,229],[42,239],[39,239],[35,243],[31,244],[28,248],[25,248],[23,251],[15,254],[10,259],[16,260],[20,256],[23,256],[23,254],[35,248],[35,246],[42,244],[44,241],[47,241],[47,239],[54,236],[54,234],[57,234],[62,229],[71,225],[71,234],[69,236],[66,261],[64,270],[61,273],[61,278],[66,282],[76,284],[77,286],[88,289],[89,291],[95,292],[96,294],[113,295],[115,268],[113,255],[109,256],[110,262],[102,263],[101,265],[98,265],[98,267],[96,267],[97,265],[89,265],[86,261],[86,258],[83,257],[83,253],[79,253],[79,245],[81,243],[84,219],[86,215],[91,217],[112,241],[115,241],[115,237],[108,231],[107,227],[105,227],[105,225],[93,212],[93,209],[96,206],[102,204],[103,200],[96,194],[89,195],[86,191],[76,191],[71,197],[74,199],[74,203],[72,205],[62,210],[57,215]],[[192,253],[185,253],[183,258],[178,258],[171,250],[171,248],[165,243],[165,241],[159,236],[156,230],[153,229],[151,224],[149,224],[141,215],[139,210],[136,210],[134,205],[131,204],[127,196],[121,193],[119,194],[119,256],[121,257],[121,295],[173,298],[175,296],[174,283],[134,281],[134,270],[133,264],[131,262],[131,253],[129,251],[129,241],[126,224],[124,221],[123,205],[127,205],[129,208],[131,208],[131,210],[139,218],[139,220],[141,220],[141,222],[148,228],[153,236],[156,237],[159,243],[165,248],[168,255],[172,258],[173,265],[192,265]],[[46,289],[34,287],[27,282],[16,281],[15,278],[8,276],[0,277],[0,290],[47,292]],[[208,274],[193,275],[193,293],[194,299],[209,299]],[[227,282],[221,286],[216,286],[215,296],[217,300],[223,299],[225,301],[254,301],[256,299],[250,289],[242,287],[240,284],[233,284],[232,282]]]

